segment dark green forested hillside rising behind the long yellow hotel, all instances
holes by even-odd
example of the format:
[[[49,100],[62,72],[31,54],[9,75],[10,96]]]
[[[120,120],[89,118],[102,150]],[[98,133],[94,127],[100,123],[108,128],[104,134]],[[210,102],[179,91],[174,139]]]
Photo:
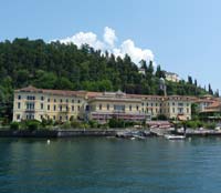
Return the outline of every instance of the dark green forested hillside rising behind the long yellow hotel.
[[[0,42],[0,118],[11,116],[13,90],[32,84],[44,89],[116,91],[160,94],[164,71],[140,61],[146,75],[128,55],[124,59],[88,45],[45,43],[43,40],[15,39]],[[197,81],[166,82],[168,94],[200,95],[207,91]],[[210,93],[212,90],[210,88]]]

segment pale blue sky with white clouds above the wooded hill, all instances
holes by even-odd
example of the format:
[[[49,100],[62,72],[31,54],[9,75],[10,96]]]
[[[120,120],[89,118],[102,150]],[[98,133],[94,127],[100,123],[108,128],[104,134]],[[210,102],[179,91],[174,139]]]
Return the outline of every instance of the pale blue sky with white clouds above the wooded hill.
[[[1,0],[0,41],[88,44],[221,90],[220,0]]]

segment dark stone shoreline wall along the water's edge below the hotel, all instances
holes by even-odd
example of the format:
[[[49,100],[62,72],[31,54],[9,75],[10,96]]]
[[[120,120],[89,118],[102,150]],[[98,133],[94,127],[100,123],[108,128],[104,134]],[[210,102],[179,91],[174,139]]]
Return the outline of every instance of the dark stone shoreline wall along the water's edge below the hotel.
[[[157,136],[151,130],[136,130],[136,129],[39,129],[30,130],[10,130],[0,129],[0,138],[76,138],[76,136],[119,136],[119,133],[127,132],[143,132],[145,138]],[[161,131],[166,131],[161,129]],[[183,135],[182,130],[173,131],[173,134]],[[166,134],[166,133],[165,133]],[[187,129],[186,136],[221,136],[221,131],[217,130],[192,130]],[[159,136],[158,136],[159,138]]]

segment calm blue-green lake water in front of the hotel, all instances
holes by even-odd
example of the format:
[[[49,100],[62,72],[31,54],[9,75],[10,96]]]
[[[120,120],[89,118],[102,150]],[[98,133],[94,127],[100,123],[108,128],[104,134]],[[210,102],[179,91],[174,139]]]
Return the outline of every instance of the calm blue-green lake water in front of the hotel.
[[[220,193],[221,139],[0,139],[1,193]]]

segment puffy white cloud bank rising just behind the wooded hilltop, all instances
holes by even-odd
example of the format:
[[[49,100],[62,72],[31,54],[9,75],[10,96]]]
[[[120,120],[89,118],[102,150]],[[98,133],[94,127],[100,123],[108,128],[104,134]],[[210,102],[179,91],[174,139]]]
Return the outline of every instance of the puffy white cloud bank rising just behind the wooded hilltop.
[[[134,41],[130,39],[125,40],[119,47],[116,47],[115,42],[117,41],[117,37],[115,34],[115,30],[112,28],[105,27],[103,39],[104,41],[98,40],[97,35],[93,32],[78,32],[73,37],[67,37],[59,41],[62,43],[74,43],[78,48],[82,44],[87,43],[96,50],[108,50],[108,52],[120,58],[128,54],[131,58],[131,61],[136,64],[139,64],[140,60],[154,61],[155,55],[151,50],[136,47]]]

